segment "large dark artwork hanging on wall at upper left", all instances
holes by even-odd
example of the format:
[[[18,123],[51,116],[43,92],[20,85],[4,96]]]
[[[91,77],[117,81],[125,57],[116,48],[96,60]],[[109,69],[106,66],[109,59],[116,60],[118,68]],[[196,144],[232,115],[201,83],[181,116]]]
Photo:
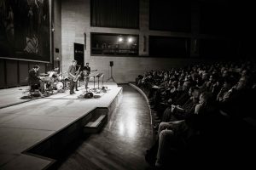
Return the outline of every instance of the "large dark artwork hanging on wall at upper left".
[[[49,0],[1,0],[0,58],[49,61]]]

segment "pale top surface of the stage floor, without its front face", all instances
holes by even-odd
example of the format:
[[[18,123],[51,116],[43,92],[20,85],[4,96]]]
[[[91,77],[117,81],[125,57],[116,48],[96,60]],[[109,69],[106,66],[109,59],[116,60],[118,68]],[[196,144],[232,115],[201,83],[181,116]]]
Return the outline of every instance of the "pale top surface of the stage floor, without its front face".
[[[98,99],[79,99],[84,92],[70,95],[58,93],[40,99],[20,99],[27,87],[0,90],[0,169],[42,169],[50,160],[24,155],[21,152],[75,122],[96,107],[108,107],[122,92],[108,82],[108,92]],[[93,84],[90,83],[90,88]]]

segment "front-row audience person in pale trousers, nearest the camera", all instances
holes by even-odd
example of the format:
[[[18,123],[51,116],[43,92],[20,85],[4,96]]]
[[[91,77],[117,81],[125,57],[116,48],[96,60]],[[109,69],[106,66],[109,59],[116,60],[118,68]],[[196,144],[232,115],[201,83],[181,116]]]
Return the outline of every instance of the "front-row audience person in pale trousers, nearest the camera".
[[[195,114],[180,121],[161,122],[155,166],[172,166],[176,163],[174,161],[176,159],[176,161],[183,162],[184,160],[180,159],[185,159],[186,155],[183,155],[182,150],[191,144],[192,139],[198,138],[199,135],[201,138],[207,138],[208,135],[214,138],[212,132],[216,130],[213,125],[218,123],[217,113],[218,108],[216,108],[212,99],[212,94],[205,92],[200,95],[200,102],[195,107]],[[196,141],[200,142],[199,140]]]

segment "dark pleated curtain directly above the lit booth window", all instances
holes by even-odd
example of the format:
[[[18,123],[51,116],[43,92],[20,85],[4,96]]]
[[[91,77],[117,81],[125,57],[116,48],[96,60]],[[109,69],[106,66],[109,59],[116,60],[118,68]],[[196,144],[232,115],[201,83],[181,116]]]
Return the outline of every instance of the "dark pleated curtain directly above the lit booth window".
[[[138,0],[91,0],[91,26],[138,28]]]

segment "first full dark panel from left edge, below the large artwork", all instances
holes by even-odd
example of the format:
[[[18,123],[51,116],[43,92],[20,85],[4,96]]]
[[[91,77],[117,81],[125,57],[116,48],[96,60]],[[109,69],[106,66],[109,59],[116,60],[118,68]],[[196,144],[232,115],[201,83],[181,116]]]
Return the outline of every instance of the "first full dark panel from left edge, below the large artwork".
[[[18,82],[18,61],[6,60],[6,84],[7,87],[19,86]]]

